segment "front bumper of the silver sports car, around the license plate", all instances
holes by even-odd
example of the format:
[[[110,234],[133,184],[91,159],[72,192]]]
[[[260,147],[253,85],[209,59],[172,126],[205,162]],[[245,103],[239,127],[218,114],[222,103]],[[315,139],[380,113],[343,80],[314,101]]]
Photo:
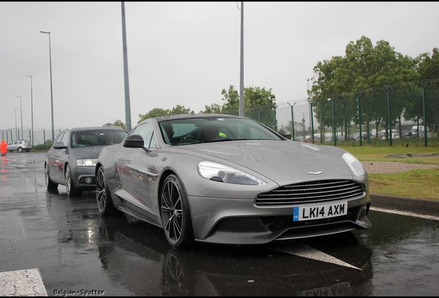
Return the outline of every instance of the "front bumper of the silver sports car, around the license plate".
[[[195,240],[216,244],[266,244],[371,228],[367,219],[369,195],[350,199],[347,215],[308,221],[293,221],[293,207],[297,205],[260,207],[255,206],[254,199],[188,200]]]

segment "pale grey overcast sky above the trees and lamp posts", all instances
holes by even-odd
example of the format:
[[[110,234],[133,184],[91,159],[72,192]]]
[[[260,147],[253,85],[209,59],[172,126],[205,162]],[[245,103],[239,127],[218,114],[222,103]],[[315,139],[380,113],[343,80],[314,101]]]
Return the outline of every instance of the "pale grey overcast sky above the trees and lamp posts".
[[[125,2],[131,123],[153,108],[195,112],[240,90],[241,2]],[[244,2],[244,87],[304,99],[318,61],[350,41],[417,57],[439,47],[438,2]],[[126,122],[121,2],[0,3],[0,129]],[[21,97],[21,107],[20,99]],[[17,110],[14,110],[17,108]],[[17,117],[15,117],[17,115]]]

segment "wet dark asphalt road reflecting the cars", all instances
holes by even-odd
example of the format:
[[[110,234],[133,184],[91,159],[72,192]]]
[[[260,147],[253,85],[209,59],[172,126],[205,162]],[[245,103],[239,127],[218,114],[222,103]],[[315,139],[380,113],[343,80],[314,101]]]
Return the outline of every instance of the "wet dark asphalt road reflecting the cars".
[[[438,295],[438,218],[373,209],[371,230],[174,250],[160,228],[101,217],[94,192],[46,191],[44,157],[1,157],[0,273],[36,268],[50,296]]]

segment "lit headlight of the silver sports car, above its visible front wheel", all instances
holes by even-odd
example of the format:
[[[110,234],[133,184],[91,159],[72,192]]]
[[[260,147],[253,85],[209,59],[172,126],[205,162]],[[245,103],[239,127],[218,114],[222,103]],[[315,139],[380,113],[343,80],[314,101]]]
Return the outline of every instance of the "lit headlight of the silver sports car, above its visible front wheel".
[[[201,177],[213,181],[244,184],[244,185],[265,185],[266,183],[256,177],[236,170],[234,168],[224,166],[219,163],[210,161],[202,161],[198,163],[198,172]]]

